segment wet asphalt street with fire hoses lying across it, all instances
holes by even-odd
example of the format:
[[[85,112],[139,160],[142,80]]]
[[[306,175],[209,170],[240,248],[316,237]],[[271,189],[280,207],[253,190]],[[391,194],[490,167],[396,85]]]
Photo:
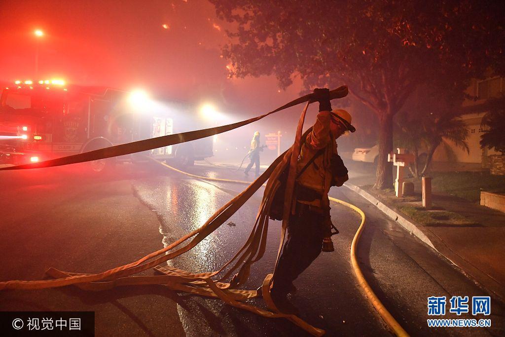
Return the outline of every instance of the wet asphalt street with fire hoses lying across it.
[[[189,168],[188,171],[211,177],[244,178],[240,172],[233,172],[230,169],[221,167],[196,165]],[[71,178],[72,175],[69,172],[55,174],[50,181],[44,184],[37,184],[36,178],[26,178],[26,175],[22,175],[20,178],[16,174],[12,176],[3,174],[0,178],[4,179],[3,181],[6,182],[8,188],[3,190],[2,202],[3,206],[19,204],[16,200],[12,199],[16,197],[20,198],[19,200],[23,203],[29,204],[32,196],[35,194],[39,195],[40,191],[51,191],[52,188],[48,186],[68,184],[70,188],[60,189],[58,195],[56,193],[55,195],[49,194],[43,198],[43,202],[32,201],[32,203],[45,203],[48,207],[48,205],[57,203],[59,197],[63,198],[62,195],[65,196],[74,191],[72,198],[63,199],[67,204],[75,204],[69,207],[78,207],[79,204],[88,207],[86,212],[83,212],[84,214],[79,214],[79,219],[73,219],[74,215],[72,212],[69,210],[60,210],[56,206],[53,206],[51,212],[38,210],[39,213],[32,216],[43,216],[44,221],[51,221],[51,217],[53,219],[66,217],[69,223],[85,223],[86,214],[89,221],[90,219],[106,218],[110,215],[108,213],[114,213],[114,209],[122,208],[121,211],[123,213],[129,214],[131,212],[132,217],[141,214],[141,218],[145,218],[146,222],[147,218],[149,218],[149,222],[155,223],[159,221],[159,226],[153,225],[138,228],[132,226],[121,232],[121,227],[114,227],[114,218],[119,217],[119,215],[109,216],[107,220],[107,223],[110,223],[109,228],[97,232],[91,239],[102,243],[107,243],[108,237],[114,240],[114,235],[123,239],[122,243],[116,245],[117,247],[111,245],[111,247],[114,246],[116,248],[116,251],[104,253],[109,262],[108,267],[113,267],[114,263],[126,263],[139,257],[139,255],[159,249],[162,245],[166,245],[184,233],[200,226],[214,211],[245,187],[245,185],[235,183],[210,182],[188,178],[156,164],[146,165],[140,171],[141,173],[136,173],[135,170],[133,172],[129,166],[126,166],[126,168],[120,167],[114,179],[112,179],[114,180],[113,182],[106,178],[98,181],[95,181],[92,177],[86,178],[87,180],[85,179],[85,181],[87,182],[83,183],[83,185],[88,186],[92,182],[93,187],[90,191],[88,189],[89,192],[86,194],[86,198],[89,200],[85,203],[82,200],[85,197],[79,192],[83,189],[83,185],[81,186],[80,184],[82,181],[76,182],[74,178]],[[123,176],[123,178],[118,179],[118,176]],[[22,179],[22,181],[19,179]],[[26,188],[18,188],[19,184],[25,185]],[[33,184],[38,185],[38,187],[34,189],[31,187]],[[112,190],[111,184],[114,186]],[[104,192],[105,190],[107,192]],[[257,194],[221,228],[212,233],[204,242],[201,242],[190,252],[170,261],[171,265],[189,271],[213,271],[227,262],[234,255],[234,252],[245,242],[254,224],[262,192],[263,188],[260,188]],[[120,203],[125,201],[118,200],[118,204],[111,203],[102,208],[93,208],[93,193],[96,197],[101,198],[100,200],[105,198],[104,195],[108,197],[115,194],[124,195],[123,198],[130,198],[125,200],[131,203],[131,205],[122,205]],[[389,221],[373,205],[354,194],[354,192],[344,187],[334,187],[330,195],[355,204],[365,211],[367,215],[366,229],[358,247],[360,265],[365,277],[380,300],[411,335],[505,334],[503,305],[496,299],[491,300],[491,315],[485,317],[491,319],[492,325],[490,328],[429,328],[426,319],[431,317],[427,316],[427,297],[446,296],[450,298],[455,295],[471,297],[487,294],[456,268],[430,251],[402,228]],[[135,204],[134,198],[139,201],[138,204]],[[6,201],[7,199],[9,201]],[[30,210],[26,212],[28,213],[27,216],[29,216]],[[361,219],[354,211],[340,205],[332,206],[331,215],[334,224],[340,231],[340,234],[333,236],[335,252],[322,253],[315,263],[295,281],[298,293],[291,297],[291,301],[300,309],[301,318],[314,326],[325,329],[327,335],[389,335],[390,332],[383,324],[380,316],[363,295],[350,264],[350,244]],[[7,224],[7,222],[10,224],[15,221],[21,220],[14,216],[4,217],[4,224],[1,225],[8,227],[10,237],[13,240],[22,242],[18,238],[22,237],[18,231],[22,233],[23,230]],[[136,221],[133,222],[137,223]],[[72,231],[67,231],[67,229],[61,227],[46,230],[59,231],[58,235],[64,239],[68,235],[72,236]],[[271,221],[267,252],[263,259],[252,267],[251,276],[246,288],[254,289],[258,287],[265,275],[272,272],[278,249],[279,231],[280,223]],[[135,233],[147,235],[148,240],[139,239],[137,237],[139,235],[135,236]],[[9,239],[4,238],[3,240]],[[125,245],[126,243],[128,243],[127,246]],[[36,244],[34,243],[34,245]],[[126,254],[122,251],[125,247],[130,248],[126,250]],[[135,247],[134,252],[131,251],[131,247]],[[137,247],[142,247],[140,249],[142,254],[136,251]],[[4,257],[15,257],[24,248],[23,245],[16,243],[7,244],[7,241],[4,241],[4,244],[0,245],[0,253]],[[82,252],[85,253],[87,248],[83,247],[79,251],[81,254]],[[35,255],[34,259],[30,259],[30,262],[26,262],[25,265],[32,263],[32,266],[37,266],[37,258],[43,260],[42,254],[39,255],[39,257]],[[27,277],[40,278],[40,271],[38,271],[38,276],[37,274],[34,276],[34,274],[19,272],[16,268],[19,268],[19,265],[23,265],[23,263],[13,265],[10,262],[11,260],[5,259],[3,261],[7,269],[4,269],[1,273],[2,279],[12,279],[13,277],[24,279]],[[70,259],[67,261],[70,269],[62,269],[80,271],[76,267],[71,268],[72,263],[82,263],[82,259]],[[92,264],[92,261],[88,263]],[[96,272],[100,270],[85,271]],[[111,293],[115,294],[114,296],[111,296],[110,293],[108,295],[102,294],[102,301],[100,302],[96,299],[96,303],[101,303],[103,306],[97,306],[95,302],[91,301],[89,307],[91,309],[87,308],[87,310],[109,310],[107,307],[108,302],[117,302],[118,298],[122,298],[119,295],[121,289],[117,288],[111,291]],[[74,301],[75,305],[73,308],[77,309],[73,310],[79,310],[82,307],[79,301],[89,302],[89,300],[84,300],[87,293],[75,288],[65,288],[64,291],[46,290],[43,292],[46,292],[45,297],[42,295],[30,296],[32,307],[22,305],[20,304],[21,302],[16,302],[16,299],[23,299],[25,295],[20,294],[23,292],[4,293],[8,295],[0,294],[0,310],[32,309],[34,303],[36,304],[37,301],[42,303],[44,303],[43,301],[50,301],[48,299],[52,295],[54,296],[55,293],[58,294],[59,301],[65,301],[66,297],[76,298],[77,300]],[[136,301],[131,307],[125,309],[130,313],[127,316],[131,318],[132,322],[130,324],[124,323],[125,328],[120,333],[123,335],[273,336],[306,334],[286,320],[255,316],[254,314],[224,305],[219,300],[186,296],[184,294],[166,294],[166,292],[164,293],[156,287],[146,287],[141,292],[129,289],[129,292],[136,292]],[[155,302],[145,302],[142,300],[144,298],[152,298],[153,296],[163,296],[163,298],[158,298]],[[4,299],[4,301],[1,301],[1,299]],[[5,301],[6,299],[9,301]],[[162,305],[158,304],[161,301],[165,301],[165,305],[168,308],[166,308],[167,317],[165,319],[163,319],[163,313],[160,314],[159,310],[156,310],[157,305],[162,308]],[[263,305],[261,300],[251,300],[251,303],[259,306]],[[124,303],[121,305],[125,306]],[[150,305],[153,305],[153,307],[149,308]],[[125,310],[122,311],[125,312]],[[141,315],[138,313],[139,311],[142,312]],[[153,312],[154,316],[161,317],[159,318],[161,320],[156,321],[152,317],[147,318],[149,311]],[[115,334],[114,329],[104,327],[107,324],[111,324],[108,318],[109,315],[112,316],[113,312],[111,311],[109,314],[102,314],[101,316],[98,315],[99,318],[96,321],[97,335]],[[441,318],[456,317],[456,315],[447,314]],[[463,314],[457,318],[475,317]],[[146,323],[147,321],[149,323]],[[114,321],[112,323],[114,324]],[[135,325],[137,327],[132,328]],[[142,326],[142,328],[138,328],[138,326]]]

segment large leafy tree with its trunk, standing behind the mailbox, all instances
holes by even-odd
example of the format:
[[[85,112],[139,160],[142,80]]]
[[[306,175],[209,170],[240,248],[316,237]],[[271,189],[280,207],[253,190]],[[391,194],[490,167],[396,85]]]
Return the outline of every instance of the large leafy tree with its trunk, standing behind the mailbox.
[[[466,87],[490,64],[502,71],[503,4],[445,0],[211,0],[237,25],[224,46],[236,77],[275,75],[286,88],[345,83],[379,119],[376,188],[392,185],[392,120],[413,90],[433,78]],[[498,3],[498,2],[495,2]],[[429,99],[429,98],[427,98]]]

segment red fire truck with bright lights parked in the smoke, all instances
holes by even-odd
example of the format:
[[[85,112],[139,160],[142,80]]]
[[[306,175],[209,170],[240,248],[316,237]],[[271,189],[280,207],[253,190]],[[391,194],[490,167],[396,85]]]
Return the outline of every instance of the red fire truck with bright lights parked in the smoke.
[[[145,100],[139,92],[110,87],[66,85],[63,80],[16,81],[0,97],[0,164],[25,164],[186,131],[194,107]],[[186,122],[186,127],[188,123]],[[198,139],[89,163],[96,172],[145,156],[192,165],[213,155],[212,138]]]

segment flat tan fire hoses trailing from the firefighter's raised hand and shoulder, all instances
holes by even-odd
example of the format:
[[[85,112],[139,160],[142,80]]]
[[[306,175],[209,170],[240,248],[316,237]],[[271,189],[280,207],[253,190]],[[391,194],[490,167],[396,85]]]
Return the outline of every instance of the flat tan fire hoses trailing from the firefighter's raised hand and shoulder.
[[[347,87],[341,86],[335,90],[330,91],[332,99],[345,97],[347,94]],[[240,194],[230,200],[227,204],[217,210],[201,227],[193,230],[192,232],[184,235],[183,237],[176,240],[171,245],[153,252],[135,262],[113,268],[102,273],[97,274],[83,274],[83,273],[71,273],[60,271],[55,268],[49,268],[46,273],[55,279],[50,280],[34,280],[34,281],[23,281],[23,280],[11,280],[0,282],[0,290],[5,289],[24,289],[24,290],[34,290],[40,288],[48,287],[59,287],[65,285],[76,285],[85,290],[99,291],[109,289],[119,285],[133,285],[133,284],[164,284],[176,291],[183,291],[191,294],[197,294],[201,296],[217,297],[223,300],[225,303],[232,305],[237,308],[248,310],[250,312],[262,315],[264,317],[286,318],[301,328],[305,329],[313,335],[323,335],[324,330],[316,328],[309,323],[301,320],[299,317],[292,314],[284,314],[280,312],[273,303],[270,297],[270,284],[272,281],[273,274],[268,274],[263,282],[263,298],[269,308],[269,310],[264,310],[257,308],[255,306],[242,303],[248,298],[256,297],[258,294],[256,291],[249,290],[236,290],[238,285],[243,285],[248,278],[250,266],[261,259],[265,253],[266,242],[267,242],[267,231],[268,231],[268,214],[270,211],[270,206],[272,203],[272,198],[275,191],[279,187],[280,183],[278,178],[282,173],[283,169],[286,168],[288,162],[291,163],[289,167],[288,180],[286,184],[285,191],[285,207],[284,216],[285,220],[282,221],[281,228],[281,239],[279,244],[279,250],[277,253],[277,261],[279,259],[281,249],[284,242],[284,236],[288,224],[288,214],[290,211],[289,205],[291,205],[292,191],[294,186],[294,174],[295,174],[295,164],[300,152],[300,145],[302,138],[304,138],[307,133],[306,131],[303,135],[301,134],[302,126],[304,124],[305,115],[309,104],[312,102],[311,95],[305,95],[300,97],[272,112],[267,114],[251,118],[242,122],[237,122],[229,125],[224,125],[215,128],[189,131],[179,134],[172,134],[161,136],[157,138],[144,139],[140,141],[135,141],[131,143],[125,143],[122,145],[117,145],[105,149],[95,150],[87,153],[82,153],[78,155],[57,158],[53,160],[48,160],[40,163],[25,164],[19,166],[0,168],[0,170],[15,170],[15,169],[29,169],[38,167],[51,167],[51,166],[61,166],[73,163],[86,162],[91,160],[111,158],[115,156],[127,155],[135,152],[147,151],[151,149],[156,149],[160,147],[165,147],[169,145],[175,145],[177,143],[190,141],[194,139],[199,139],[225,131],[238,128],[240,126],[258,121],[270,114],[278,112],[280,110],[292,107],[294,105],[307,102],[305,109],[302,111],[296,138],[293,146],[285,151],[281,156],[279,156],[268,168],[260,175],[254,182],[244,189]],[[205,177],[204,177],[205,178]],[[229,181],[227,179],[222,179]],[[235,256],[225,263],[219,270],[212,272],[203,273],[190,273],[184,270],[180,270],[174,267],[161,267],[160,264],[168,260],[171,260],[185,252],[189,251],[195,247],[201,240],[205,239],[210,233],[221,226],[227,219],[230,218],[266,181],[266,188],[262,203],[258,215],[256,217],[256,222],[251,230],[249,237],[247,238],[243,247],[235,254]],[[238,181],[237,181],[238,182]],[[287,206],[286,206],[287,205]],[[364,223],[364,218],[363,218]],[[363,224],[362,223],[362,224]],[[183,247],[183,243],[187,242]],[[354,244],[354,242],[353,242]],[[175,250],[174,250],[175,249]],[[174,251],[172,251],[174,250]],[[167,253],[171,251],[170,253]],[[276,265],[277,265],[276,261]],[[354,263],[353,263],[354,265]],[[154,276],[133,276],[141,271],[154,268],[161,275]],[[228,268],[228,270],[226,270]],[[238,271],[237,271],[238,270]],[[233,274],[237,271],[235,274]],[[274,269],[275,272],[275,269]],[[224,273],[224,274],[223,274]],[[212,277],[221,274],[218,279],[213,279]],[[229,282],[225,280],[229,279]],[[366,281],[365,281],[366,283]],[[360,282],[361,284],[361,282]],[[373,294],[373,292],[372,292]],[[368,293],[367,293],[368,296]],[[380,302],[379,302],[380,303]],[[385,308],[384,308],[385,309]],[[378,310],[379,311],[379,310]],[[386,310],[387,312],[387,310]],[[380,313],[380,311],[379,311]],[[392,317],[391,317],[392,318]],[[393,318],[394,320],[394,318]],[[397,324],[397,323],[396,323]],[[398,325],[399,326],[399,325]],[[401,327],[400,327],[401,328]],[[405,332],[405,331],[403,331]]]

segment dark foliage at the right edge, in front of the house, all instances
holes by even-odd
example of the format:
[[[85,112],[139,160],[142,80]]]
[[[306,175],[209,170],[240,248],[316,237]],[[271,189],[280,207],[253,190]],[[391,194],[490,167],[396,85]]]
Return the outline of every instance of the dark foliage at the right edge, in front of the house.
[[[482,118],[484,133],[480,136],[481,148],[494,148],[505,155],[505,98],[491,99],[489,112]]]

